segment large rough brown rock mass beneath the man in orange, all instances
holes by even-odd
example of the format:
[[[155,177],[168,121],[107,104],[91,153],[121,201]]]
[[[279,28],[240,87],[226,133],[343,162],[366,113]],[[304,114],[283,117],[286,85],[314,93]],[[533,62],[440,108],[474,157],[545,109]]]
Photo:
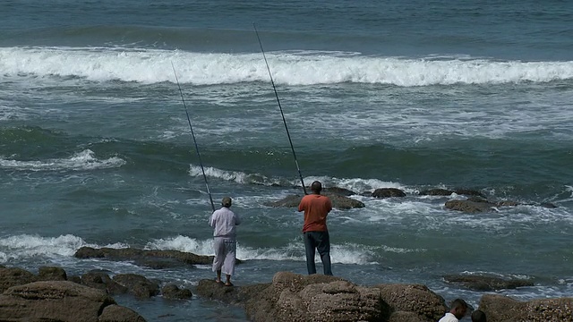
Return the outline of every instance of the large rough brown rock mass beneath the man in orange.
[[[226,287],[202,280],[202,297],[244,306],[252,321],[435,322],[447,310],[423,285],[363,287],[328,275],[278,272],[270,284]]]

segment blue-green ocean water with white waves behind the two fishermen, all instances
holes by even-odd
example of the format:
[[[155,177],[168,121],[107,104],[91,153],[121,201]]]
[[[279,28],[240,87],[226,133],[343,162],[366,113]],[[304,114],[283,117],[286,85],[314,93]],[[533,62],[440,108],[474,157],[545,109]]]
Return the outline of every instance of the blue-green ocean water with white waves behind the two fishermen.
[[[426,284],[474,307],[483,292],[442,276],[530,279],[497,291],[523,301],[573,292],[565,1],[6,0],[0,30],[0,264],[190,288],[214,277],[73,258],[82,246],[213,254],[186,107],[215,207],[231,196],[244,217],[235,284],[305,274],[302,215],[264,206],[303,193],[280,102],[304,182],[366,206],[329,215],[335,275]],[[406,198],[362,195],[389,187]],[[458,213],[444,203],[464,196],[418,194],[432,188],[520,205]],[[148,321],[246,320],[199,296],[115,299]]]

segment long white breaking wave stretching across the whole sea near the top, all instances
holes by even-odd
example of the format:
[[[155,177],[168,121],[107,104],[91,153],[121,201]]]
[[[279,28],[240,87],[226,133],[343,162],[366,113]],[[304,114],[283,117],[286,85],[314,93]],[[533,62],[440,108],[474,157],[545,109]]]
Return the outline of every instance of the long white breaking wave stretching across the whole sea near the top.
[[[277,83],[291,85],[341,82],[428,86],[520,81],[546,82],[573,78],[573,62],[500,62],[488,59],[435,57],[407,59],[341,52],[269,52]],[[194,84],[269,81],[261,55],[191,53],[117,47],[4,47],[4,77],[82,77],[93,81],[142,83],[175,81]]]

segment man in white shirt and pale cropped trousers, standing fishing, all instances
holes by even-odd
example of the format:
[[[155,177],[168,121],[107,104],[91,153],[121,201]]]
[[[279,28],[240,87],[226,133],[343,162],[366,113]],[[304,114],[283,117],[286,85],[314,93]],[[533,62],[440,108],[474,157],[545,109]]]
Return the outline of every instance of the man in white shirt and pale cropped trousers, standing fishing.
[[[231,209],[231,199],[223,198],[221,208],[215,210],[209,218],[209,225],[213,227],[213,244],[215,258],[213,258],[213,272],[217,272],[217,283],[221,282],[221,272],[227,275],[225,286],[233,286],[231,275],[235,274],[236,259],[236,225],[241,224],[241,218]]]

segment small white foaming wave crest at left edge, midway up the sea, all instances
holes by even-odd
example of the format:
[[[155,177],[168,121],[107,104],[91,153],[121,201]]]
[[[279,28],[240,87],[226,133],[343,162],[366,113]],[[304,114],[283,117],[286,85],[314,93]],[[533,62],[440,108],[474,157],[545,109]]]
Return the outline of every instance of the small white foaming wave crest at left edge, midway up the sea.
[[[96,170],[120,167],[124,164],[124,159],[120,157],[98,159],[90,149],[85,149],[71,157],[43,161],[19,161],[0,156],[0,167],[22,171]]]

